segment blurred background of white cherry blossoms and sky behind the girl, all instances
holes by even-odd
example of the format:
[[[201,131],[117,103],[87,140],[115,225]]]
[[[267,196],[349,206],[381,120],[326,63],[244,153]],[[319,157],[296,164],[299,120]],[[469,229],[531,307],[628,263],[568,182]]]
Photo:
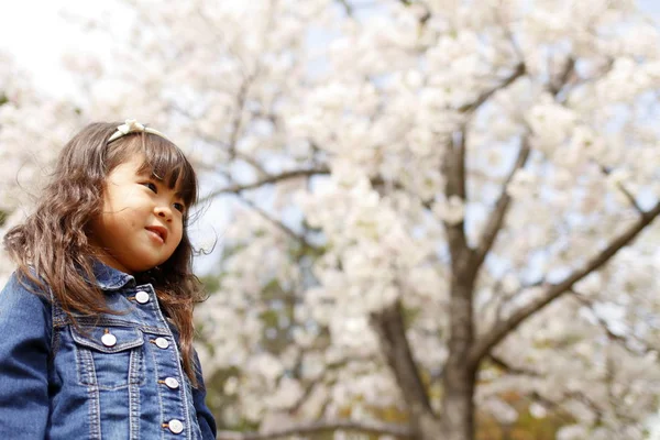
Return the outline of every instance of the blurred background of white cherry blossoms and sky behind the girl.
[[[220,439],[660,439],[656,0],[0,4],[0,232],[173,139]]]

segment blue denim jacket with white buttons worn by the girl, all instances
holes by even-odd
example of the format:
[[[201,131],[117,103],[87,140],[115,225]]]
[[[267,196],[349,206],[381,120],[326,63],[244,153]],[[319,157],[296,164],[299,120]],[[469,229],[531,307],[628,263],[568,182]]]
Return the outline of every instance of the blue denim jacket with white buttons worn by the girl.
[[[16,274],[0,293],[0,439],[215,439],[197,354],[193,388],[153,286],[102,264],[95,273],[127,314],[75,328]]]

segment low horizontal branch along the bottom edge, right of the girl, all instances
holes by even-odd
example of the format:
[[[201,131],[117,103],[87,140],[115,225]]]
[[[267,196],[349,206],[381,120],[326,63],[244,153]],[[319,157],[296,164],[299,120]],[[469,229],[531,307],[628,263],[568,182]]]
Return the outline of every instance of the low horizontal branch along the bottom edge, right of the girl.
[[[355,422],[355,421],[317,421],[311,424],[300,424],[290,428],[271,430],[265,432],[234,432],[220,431],[218,440],[271,440],[280,439],[289,436],[306,436],[321,432],[332,432],[337,430],[354,431],[372,436],[393,436],[398,439],[409,439],[410,431],[406,427],[394,424],[380,422]]]

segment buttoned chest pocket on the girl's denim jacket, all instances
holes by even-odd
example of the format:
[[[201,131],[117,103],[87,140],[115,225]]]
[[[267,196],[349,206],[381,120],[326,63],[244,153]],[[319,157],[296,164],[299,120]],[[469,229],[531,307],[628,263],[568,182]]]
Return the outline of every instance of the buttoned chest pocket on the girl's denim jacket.
[[[70,327],[81,385],[117,389],[144,381],[144,336],[133,327]]]

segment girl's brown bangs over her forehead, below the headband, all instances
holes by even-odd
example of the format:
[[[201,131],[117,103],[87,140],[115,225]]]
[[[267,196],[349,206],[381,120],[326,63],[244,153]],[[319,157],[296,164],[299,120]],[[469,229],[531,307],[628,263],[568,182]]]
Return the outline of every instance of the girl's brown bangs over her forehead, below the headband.
[[[180,194],[186,207],[197,202],[197,176],[178,146],[151,133],[135,133],[124,138],[127,150],[144,154],[145,160],[139,169],[140,173],[151,173],[169,189],[175,189]]]

